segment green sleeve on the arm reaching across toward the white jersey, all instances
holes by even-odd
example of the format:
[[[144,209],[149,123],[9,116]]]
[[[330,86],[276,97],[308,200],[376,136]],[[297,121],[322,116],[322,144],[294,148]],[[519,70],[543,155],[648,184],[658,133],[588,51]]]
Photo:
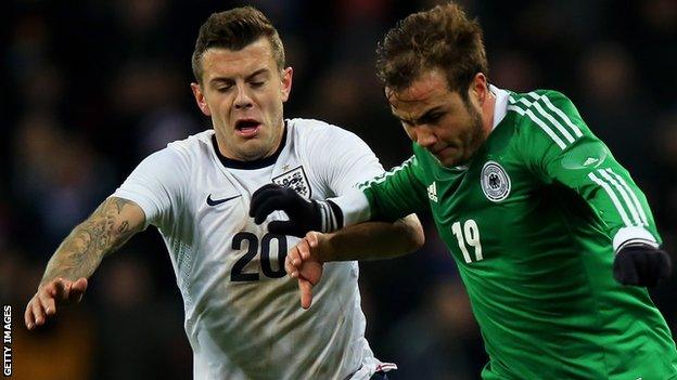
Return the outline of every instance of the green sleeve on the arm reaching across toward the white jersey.
[[[419,160],[411,156],[403,165],[360,184],[369,201],[371,220],[394,221],[425,210],[429,200],[422,175]]]

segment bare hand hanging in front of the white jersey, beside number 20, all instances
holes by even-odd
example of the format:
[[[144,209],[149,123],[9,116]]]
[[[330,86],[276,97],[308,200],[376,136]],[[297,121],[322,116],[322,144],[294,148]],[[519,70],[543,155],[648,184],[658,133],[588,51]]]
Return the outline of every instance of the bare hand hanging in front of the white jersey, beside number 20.
[[[284,260],[286,273],[298,280],[303,309],[308,309],[312,304],[312,287],[322,278],[323,262],[319,259],[321,238],[323,234],[307,233],[306,237],[289,251]]]

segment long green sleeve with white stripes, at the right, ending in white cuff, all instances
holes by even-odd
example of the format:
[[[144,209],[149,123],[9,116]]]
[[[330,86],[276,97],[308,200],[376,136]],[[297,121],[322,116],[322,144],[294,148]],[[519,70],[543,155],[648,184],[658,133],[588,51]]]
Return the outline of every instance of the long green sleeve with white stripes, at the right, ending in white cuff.
[[[614,249],[628,243],[657,246],[647,197],[566,96],[532,92],[511,96],[508,108],[522,115],[519,149],[528,169],[546,184],[561,183],[579,194],[603,222]]]

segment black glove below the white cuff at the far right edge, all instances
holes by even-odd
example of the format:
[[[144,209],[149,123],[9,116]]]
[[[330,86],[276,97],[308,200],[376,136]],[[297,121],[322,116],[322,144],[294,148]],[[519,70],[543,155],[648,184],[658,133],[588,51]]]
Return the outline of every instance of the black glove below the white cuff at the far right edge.
[[[672,264],[661,249],[631,245],[616,253],[613,271],[614,278],[623,285],[654,287],[669,277]]]

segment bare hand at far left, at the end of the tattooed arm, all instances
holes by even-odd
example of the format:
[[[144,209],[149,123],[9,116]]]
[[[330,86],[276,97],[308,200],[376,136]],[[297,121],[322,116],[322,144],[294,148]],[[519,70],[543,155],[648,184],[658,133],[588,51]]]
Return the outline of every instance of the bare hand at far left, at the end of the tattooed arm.
[[[33,330],[44,325],[47,318],[56,314],[58,304],[78,303],[86,290],[87,278],[73,281],[60,277],[42,285],[26,305],[26,327]]]

